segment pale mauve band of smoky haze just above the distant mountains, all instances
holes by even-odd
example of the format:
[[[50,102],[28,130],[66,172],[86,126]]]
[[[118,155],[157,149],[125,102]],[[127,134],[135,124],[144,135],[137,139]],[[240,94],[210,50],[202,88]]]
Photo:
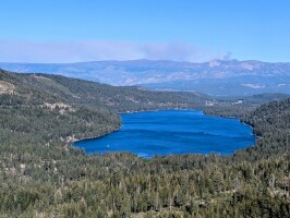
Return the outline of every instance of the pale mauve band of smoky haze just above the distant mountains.
[[[213,52],[180,41],[141,44],[118,40],[0,40],[0,62],[62,63],[135,59],[203,62],[228,59],[230,56],[230,52]]]

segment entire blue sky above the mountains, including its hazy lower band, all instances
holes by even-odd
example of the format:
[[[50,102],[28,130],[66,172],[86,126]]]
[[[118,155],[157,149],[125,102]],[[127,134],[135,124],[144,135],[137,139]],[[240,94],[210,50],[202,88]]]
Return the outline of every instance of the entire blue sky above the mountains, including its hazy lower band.
[[[0,62],[290,62],[288,0],[9,0]]]

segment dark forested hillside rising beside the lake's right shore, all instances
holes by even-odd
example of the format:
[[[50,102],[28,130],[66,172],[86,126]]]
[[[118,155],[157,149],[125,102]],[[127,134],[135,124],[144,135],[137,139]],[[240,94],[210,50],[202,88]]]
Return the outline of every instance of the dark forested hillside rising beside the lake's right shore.
[[[252,149],[252,158],[281,156],[290,148],[290,98],[266,104],[244,119],[259,140]]]

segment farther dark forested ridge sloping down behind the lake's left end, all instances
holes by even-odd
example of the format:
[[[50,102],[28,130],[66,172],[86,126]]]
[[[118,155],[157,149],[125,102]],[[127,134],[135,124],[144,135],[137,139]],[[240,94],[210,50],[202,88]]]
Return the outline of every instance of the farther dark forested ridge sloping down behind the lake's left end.
[[[53,94],[70,104],[116,111],[189,108],[204,104],[206,95],[150,92],[141,87],[110,86],[77,78],[46,74],[15,74],[24,83]]]

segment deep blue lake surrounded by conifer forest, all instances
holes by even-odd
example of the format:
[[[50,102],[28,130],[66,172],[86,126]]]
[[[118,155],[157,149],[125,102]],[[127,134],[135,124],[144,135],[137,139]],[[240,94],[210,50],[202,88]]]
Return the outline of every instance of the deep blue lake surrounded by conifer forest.
[[[173,154],[231,154],[254,145],[253,130],[237,119],[196,110],[120,114],[122,128],[108,135],[75,142],[87,154],[131,152],[140,157]]]

